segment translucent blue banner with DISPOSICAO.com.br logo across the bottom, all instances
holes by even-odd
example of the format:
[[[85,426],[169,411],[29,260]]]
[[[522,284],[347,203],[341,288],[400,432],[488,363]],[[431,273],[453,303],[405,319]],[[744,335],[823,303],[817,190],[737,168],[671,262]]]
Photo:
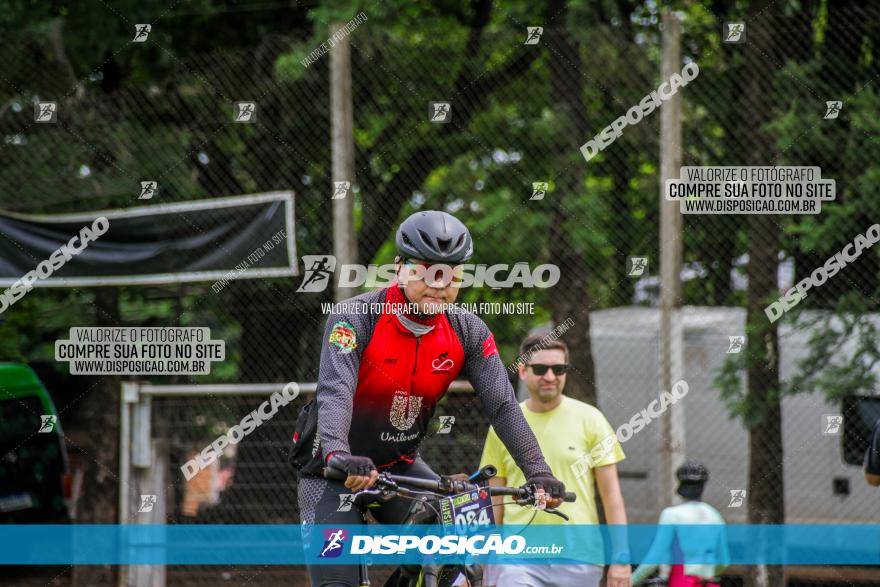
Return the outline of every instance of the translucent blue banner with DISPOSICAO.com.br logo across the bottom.
[[[673,543],[677,549],[667,547]],[[6,525],[0,544],[0,564],[15,565],[880,565],[880,525],[860,524],[511,525],[471,532],[439,525]]]

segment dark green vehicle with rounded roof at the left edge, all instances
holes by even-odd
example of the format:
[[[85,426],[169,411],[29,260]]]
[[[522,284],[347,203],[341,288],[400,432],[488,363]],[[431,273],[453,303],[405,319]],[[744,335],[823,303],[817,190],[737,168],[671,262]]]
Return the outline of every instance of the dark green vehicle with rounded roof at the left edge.
[[[67,523],[70,489],[49,393],[29,367],[0,363],[0,523]]]

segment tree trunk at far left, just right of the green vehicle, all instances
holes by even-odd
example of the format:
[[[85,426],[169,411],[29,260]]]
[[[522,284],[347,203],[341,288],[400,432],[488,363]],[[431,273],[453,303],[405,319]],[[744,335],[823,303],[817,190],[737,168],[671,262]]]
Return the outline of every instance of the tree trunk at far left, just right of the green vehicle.
[[[119,289],[95,290],[95,324],[119,326]],[[119,504],[119,395],[120,378],[103,377],[83,400],[89,423],[88,442],[82,447],[88,457],[83,476],[82,497],[77,505],[78,524],[116,524]],[[125,491],[126,488],[123,488]],[[126,520],[122,520],[123,523]],[[78,565],[73,568],[74,587],[104,587],[116,584],[113,565]]]

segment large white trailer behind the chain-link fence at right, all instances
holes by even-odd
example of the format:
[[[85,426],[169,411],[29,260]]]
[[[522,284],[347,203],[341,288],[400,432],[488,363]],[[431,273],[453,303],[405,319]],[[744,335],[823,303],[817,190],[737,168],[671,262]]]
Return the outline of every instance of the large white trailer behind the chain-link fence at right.
[[[743,335],[742,308],[687,307],[684,320],[686,453],[709,468],[704,498],[728,523],[745,523],[747,503],[731,505],[731,491],[748,490],[748,434],[732,419],[712,386],[729,346],[729,336]],[[599,408],[616,429],[645,409],[661,390],[659,381],[659,318],[656,308],[616,308],[593,312],[593,357]],[[878,320],[880,322],[880,320]],[[807,352],[809,332],[780,328],[780,373],[791,377]],[[756,341],[751,341],[756,344]],[[746,341],[749,344],[749,341]],[[743,351],[745,352],[745,351]],[[744,377],[743,377],[744,380]],[[853,403],[856,403],[853,400]],[[862,402],[864,419],[880,415],[873,400]],[[877,402],[880,403],[880,402]],[[837,433],[826,433],[826,415],[842,414],[839,402],[829,403],[817,392],[783,400],[782,425],[786,523],[880,523],[880,490],[864,482],[859,464],[844,461],[845,431],[851,437],[865,424],[847,413]],[[656,523],[660,421],[653,420],[623,445],[621,485],[631,523]],[[853,459],[850,451],[850,460]],[[746,494],[748,499],[748,493]]]

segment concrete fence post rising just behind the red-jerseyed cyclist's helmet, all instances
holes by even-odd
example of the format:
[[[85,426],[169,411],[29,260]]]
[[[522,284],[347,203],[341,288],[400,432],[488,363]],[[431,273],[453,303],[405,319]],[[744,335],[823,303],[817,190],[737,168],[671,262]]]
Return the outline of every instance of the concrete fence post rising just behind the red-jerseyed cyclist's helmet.
[[[342,31],[345,23],[330,24],[330,39],[335,45],[330,49],[330,112],[332,118],[333,181],[348,181],[354,187],[354,107],[351,97],[351,48],[348,35],[334,35]],[[343,31],[344,33],[344,31]],[[336,187],[334,184],[334,196]],[[333,200],[333,254],[336,266],[357,262],[357,240],[354,231],[354,194],[348,191],[344,197]],[[357,288],[336,287],[336,301],[350,298]]]

